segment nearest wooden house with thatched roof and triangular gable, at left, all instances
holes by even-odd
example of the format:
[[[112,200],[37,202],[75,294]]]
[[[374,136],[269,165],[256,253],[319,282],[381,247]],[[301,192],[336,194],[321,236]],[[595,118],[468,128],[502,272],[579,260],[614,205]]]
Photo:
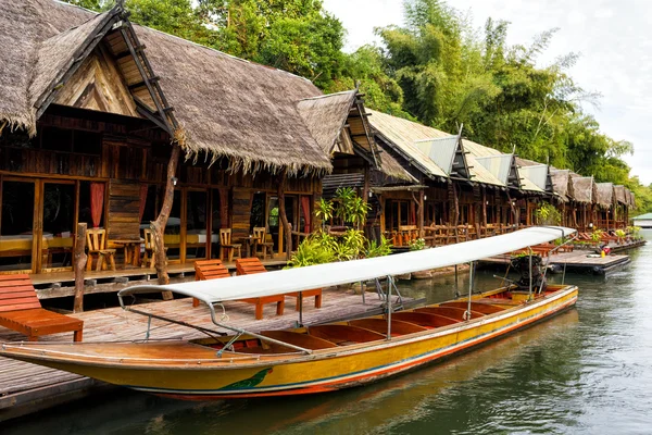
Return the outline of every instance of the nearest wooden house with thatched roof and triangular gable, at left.
[[[364,173],[377,160],[355,90],[323,97],[302,77],[131,25],[120,5],[2,9],[0,271],[70,270],[78,222],[139,256],[166,192],[171,264],[217,257],[221,229],[247,240],[265,227],[284,253],[289,232],[312,228],[334,162]],[[184,159],[168,167],[176,146]]]

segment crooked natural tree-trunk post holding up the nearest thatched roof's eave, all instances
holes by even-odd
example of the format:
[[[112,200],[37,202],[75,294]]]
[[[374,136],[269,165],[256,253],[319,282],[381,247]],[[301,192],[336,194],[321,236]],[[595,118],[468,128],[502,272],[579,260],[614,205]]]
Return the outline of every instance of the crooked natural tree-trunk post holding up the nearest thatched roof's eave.
[[[167,275],[167,259],[165,258],[165,243],[164,233],[170,212],[172,211],[172,202],[174,200],[174,183],[173,178],[176,173],[176,169],[179,162],[180,147],[178,144],[172,145],[172,152],[170,154],[170,161],[167,162],[167,178],[165,183],[165,195],[163,197],[163,204],[161,206],[161,212],[154,222],[151,223],[152,238],[154,241],[154,266],[156,268],[158,282],[160,285],[170,284],[170,276]],[[163,291],[163,299],[170,300],[173,298],[171,291]]]

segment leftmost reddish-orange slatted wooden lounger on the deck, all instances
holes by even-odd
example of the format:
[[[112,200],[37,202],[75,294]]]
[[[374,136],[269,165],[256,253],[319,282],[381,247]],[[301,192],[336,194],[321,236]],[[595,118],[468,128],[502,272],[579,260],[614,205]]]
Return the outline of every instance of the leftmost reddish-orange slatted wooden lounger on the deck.
[[[25,334],[29,341],[66,332],[82,341],[84,330],[84,321],[43,309],[26,274],[0,275],[0,325]]]

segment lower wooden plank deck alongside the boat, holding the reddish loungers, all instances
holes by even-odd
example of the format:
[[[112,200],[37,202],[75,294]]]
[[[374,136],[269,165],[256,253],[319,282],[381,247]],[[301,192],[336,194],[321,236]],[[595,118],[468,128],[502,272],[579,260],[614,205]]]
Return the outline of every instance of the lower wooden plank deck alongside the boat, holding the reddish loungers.
[[[404,301],[409,303],[409,300]],[[381,301],[375,293],[366,294],[366,304],[362,303],[360,291],[327,289],[324,290],[323,304],[315,309],[312,300],[305,299],[304,324],[323,323],[343,318],[362,316],[365,313],[379,313]],[[159,315],[186,321],[212,330],[218,330],[210,319],[209,309],[201,304],[192,308],[190,298],[172,301],[150,302],[139,306]],[[291,327],[298,321],[296,299],[286,298],[285,315],[277,316],[273,304],[265,306],[264,319],[254,320],[254,307],[246,302],[225,303],[228,320],[246,330],[258,332]],[[110,308],[71,314],[84,320],[84,341],[129,340],[145,338],[148,319],[129,313],[121,308]],[[150,337],[198,338],[202,333],[184,326],[152,320]],[[225,331],[226,332],[226,331]],[[0,327],[0,341],[21,341],[25,337],[13,331]],[[42,337],[42,341],[71,341],[72,333],[54,334]],[[0,358],[0,422],[36,412],[40,409],[60,405],[93,394],[109,386],[87,377],[34,365],[26,362]]]

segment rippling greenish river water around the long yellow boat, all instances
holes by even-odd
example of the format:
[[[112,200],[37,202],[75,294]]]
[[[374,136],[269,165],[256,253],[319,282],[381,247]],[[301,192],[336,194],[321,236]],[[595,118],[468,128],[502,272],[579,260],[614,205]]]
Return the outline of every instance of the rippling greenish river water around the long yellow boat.
[[[644,236],[652,240],[652,233]],[[577,308],[367,387],[296,398],[181,402],[120,390],[5,424],[10,434],[651,434],[652,244],[606,279],[568,274]],[[496,287],[480,272],[477,288]],[[460,288],[467,288],[466,277]],[[560,279],[555,277],[553,279]],[[453,277],[401,284],[451,298]]]

